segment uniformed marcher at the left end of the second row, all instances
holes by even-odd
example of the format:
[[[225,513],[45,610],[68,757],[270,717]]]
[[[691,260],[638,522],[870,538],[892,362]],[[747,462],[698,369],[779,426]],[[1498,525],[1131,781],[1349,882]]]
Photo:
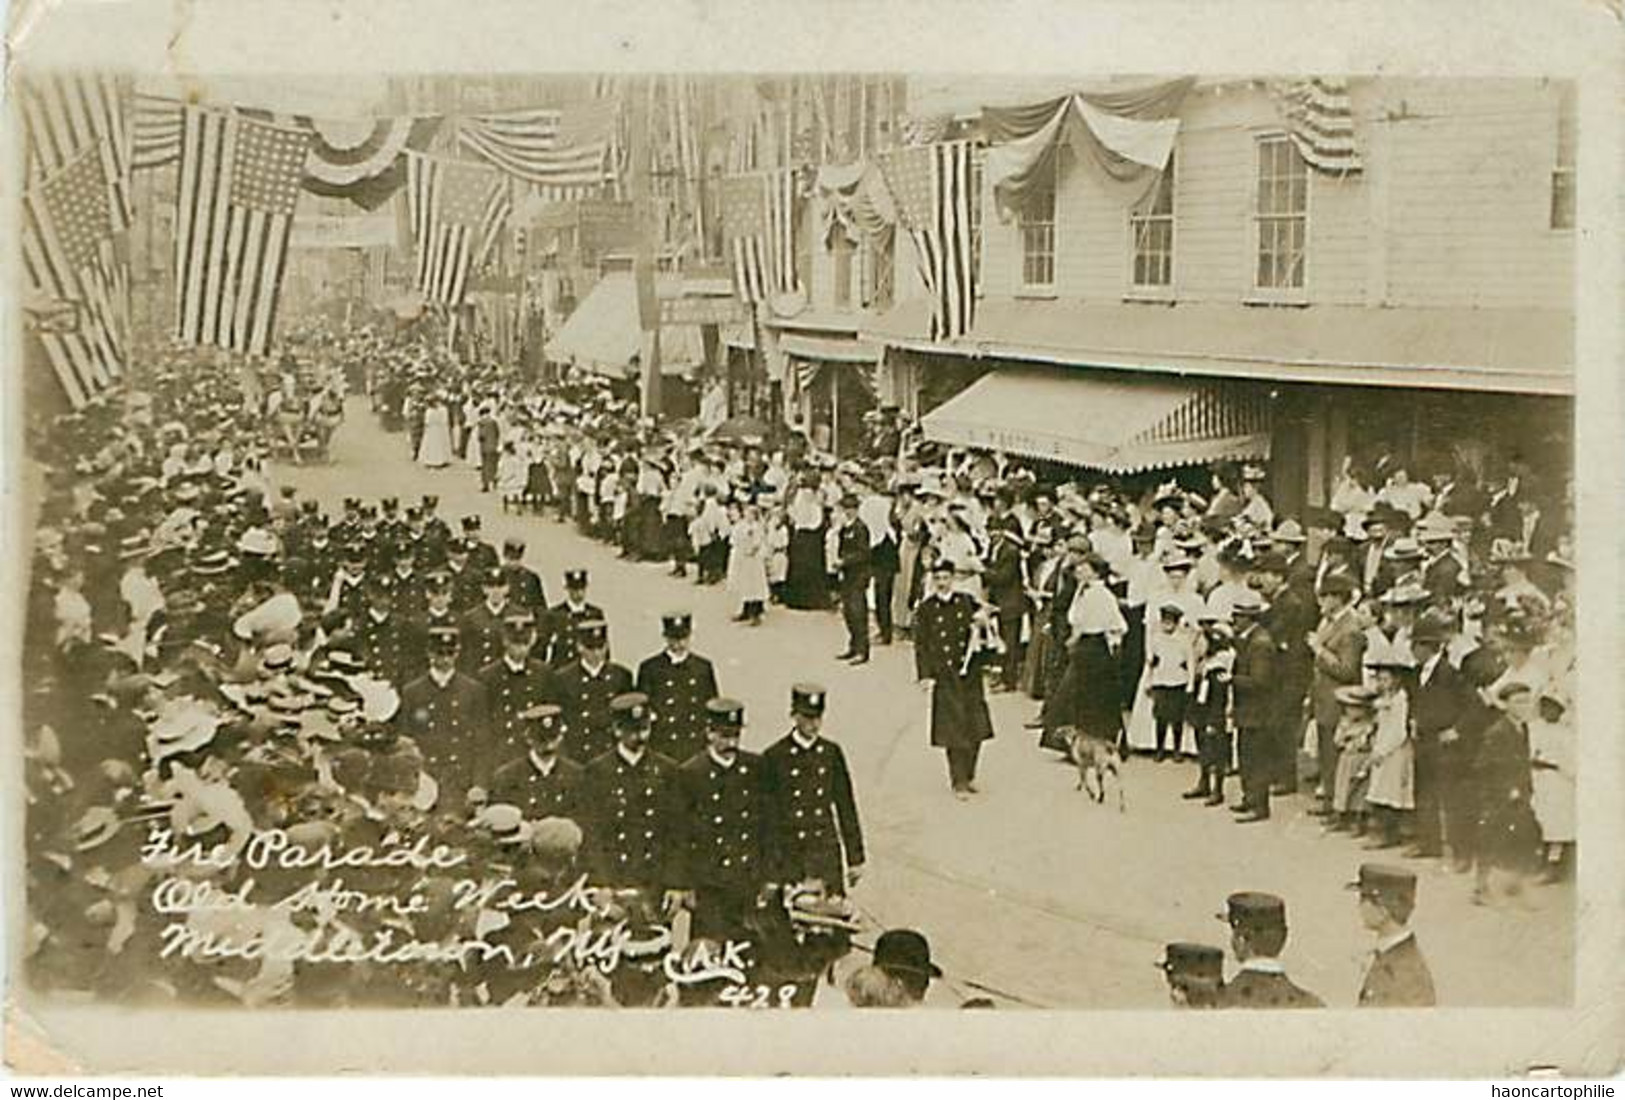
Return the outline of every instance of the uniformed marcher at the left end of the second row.
[[[457,671],[458,635],[436,627],[429,671],[401,691],[401,733],[422,751],[424,770],[440,786],[440,806],[462,808],[470,788],[484,786],[491,765],[486,689]]]

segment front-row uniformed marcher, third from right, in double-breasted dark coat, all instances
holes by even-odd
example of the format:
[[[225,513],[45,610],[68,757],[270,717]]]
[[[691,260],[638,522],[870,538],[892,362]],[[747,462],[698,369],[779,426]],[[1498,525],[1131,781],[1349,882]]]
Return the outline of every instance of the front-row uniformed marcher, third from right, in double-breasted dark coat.
[[[616,746],[588,762],[582,777],[588,874],[593,886],[660,897],[678,877],[678,765],[648,744],[647,695],[616,695],[609,708]]]

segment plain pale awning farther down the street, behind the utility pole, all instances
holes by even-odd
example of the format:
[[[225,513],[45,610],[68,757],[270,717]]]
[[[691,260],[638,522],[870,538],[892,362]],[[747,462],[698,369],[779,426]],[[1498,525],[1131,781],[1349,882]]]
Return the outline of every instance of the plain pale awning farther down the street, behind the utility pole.
[[[660,296],[674,296],[679,284],[661,279]],[[572,362],[596,374],[626,379],[635,372],[644,335],[637,318],[637,283],[629,271],[609,271],[559,331],[544,354],[552,362]],[[687,374],[705,362],[705,344],[697,325],[661,325],[660,372]]]

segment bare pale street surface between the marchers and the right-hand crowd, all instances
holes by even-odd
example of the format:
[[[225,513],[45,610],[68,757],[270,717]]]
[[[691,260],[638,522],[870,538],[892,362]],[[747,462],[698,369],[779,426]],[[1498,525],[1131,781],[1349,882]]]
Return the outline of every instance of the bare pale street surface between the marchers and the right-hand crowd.
[[[759,751],[788,728],[790,686],[829,687],[826,733],[853,767],[869,860],[855,890],[866,926],[925,931],[964,996],[1037,1007],[1139,1009],[1167,1003],[1154,968],[1164,942],[1227,942],[1214,920],[1233,890],[1287,900],[1289,972],[1329,1006],[1350,1006],[1370,936],[1344,889],[1362,858],[1358,842],[1326,837],[1303,798],[1274,819],[1240,827],[1222,808],[1183,801],[1194,764],[1131,759],[1126,809],[1076,790],[1077,777],[1022,728],[1035,704],[991,697],[996,739],[983,757],[982,795],[956,801],[941,752],[928,744],[928,697],[905,643],[879,647],[864,666],[835,660],[837,614],[772,608],[759,627],[718,588],[670,575],[665,564],[619,561],[552,518],[504,515],[478,474],[457,463],[426,471],[403,435],[377,426],[351,398],[332,463],[276,466],[273,481],[314,496],[330,513],[364,487],[369,497],[440,497],[455,522],[478,513],[486,538],[526,541],[526,564],[548,598],[561,572],[592,570],[590,598],[611,624],[611,656],[635,666],[660,647],[665,611],[694,613],[694,648],[710,656],[723,694],[748,707],[744,747]],[[1571,884],[1532,887],[1493,907],[1469,902],[1471,876],[1445,861],[1409,861],[1420,877],[1415,928],[1443,1006],[1542,1006],[1571,996]]]

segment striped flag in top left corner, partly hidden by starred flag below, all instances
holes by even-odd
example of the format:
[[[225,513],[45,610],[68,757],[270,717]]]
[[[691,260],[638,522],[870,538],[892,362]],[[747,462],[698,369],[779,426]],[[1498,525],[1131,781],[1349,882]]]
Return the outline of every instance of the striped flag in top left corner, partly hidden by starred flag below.
[[[20,81],[29,179],[42,180],[96,149],[112,229],[130,227],[130,138],[127,81],[101,73],[52,75]]]

